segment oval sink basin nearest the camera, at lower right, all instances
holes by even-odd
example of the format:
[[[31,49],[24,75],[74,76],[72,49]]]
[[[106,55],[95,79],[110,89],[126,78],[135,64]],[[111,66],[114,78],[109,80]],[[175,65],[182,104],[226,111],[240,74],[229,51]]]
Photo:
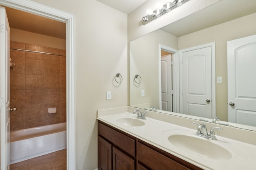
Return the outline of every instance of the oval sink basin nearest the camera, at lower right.
[[[210,139],[195,137],[189,135],[171,135],[168,141],[175,147],[198,156],[211,158],[215,160],[228,160],[232,154],[225,148],[213,143]]]

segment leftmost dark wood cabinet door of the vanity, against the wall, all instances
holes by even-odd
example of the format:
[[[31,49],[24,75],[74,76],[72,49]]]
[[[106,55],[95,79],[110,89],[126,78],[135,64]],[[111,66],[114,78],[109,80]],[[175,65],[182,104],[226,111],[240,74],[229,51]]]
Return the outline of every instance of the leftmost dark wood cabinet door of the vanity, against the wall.
[[[112,169],[112,145],[98,136],[98,169]]]

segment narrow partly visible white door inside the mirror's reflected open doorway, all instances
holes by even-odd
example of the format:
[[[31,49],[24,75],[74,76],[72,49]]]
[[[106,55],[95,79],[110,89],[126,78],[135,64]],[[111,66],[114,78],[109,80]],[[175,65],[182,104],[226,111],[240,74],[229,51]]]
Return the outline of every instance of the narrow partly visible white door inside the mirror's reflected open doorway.
[[[162,110],[172,111],[172,55],[161,58]]]

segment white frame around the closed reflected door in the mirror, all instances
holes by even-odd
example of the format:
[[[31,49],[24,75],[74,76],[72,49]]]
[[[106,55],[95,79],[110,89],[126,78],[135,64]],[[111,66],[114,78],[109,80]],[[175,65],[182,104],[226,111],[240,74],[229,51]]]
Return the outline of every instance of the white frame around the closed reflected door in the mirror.
[[[192,51],[196,49],[202,49],[206,47],[211,47],[211,55],[212,55],[212,118],[216,117],[216,78],[215,78],[215,42],[207,43],[203,45],[198,45],[194,47],[189,47],[187,49],[180,50],[180,89],[182,89],[183,82],[182,82],[182,53],[187,51]],[[182,90],[180,90],[180,112],[183,112],[183,95]]]

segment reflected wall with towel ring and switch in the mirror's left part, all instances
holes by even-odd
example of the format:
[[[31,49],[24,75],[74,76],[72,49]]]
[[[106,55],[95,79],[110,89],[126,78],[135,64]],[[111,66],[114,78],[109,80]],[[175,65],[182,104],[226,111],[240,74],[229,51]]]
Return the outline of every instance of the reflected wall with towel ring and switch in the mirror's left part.
[[[159,108],[159,44],[178,49],[178,37],[158,29],[130,42],[131,106],[150,103],[150,107]],[[140,84],[134,82],[136,74],[142,77]],[[141,97],[141,90],[145,90],[145,97]]]

